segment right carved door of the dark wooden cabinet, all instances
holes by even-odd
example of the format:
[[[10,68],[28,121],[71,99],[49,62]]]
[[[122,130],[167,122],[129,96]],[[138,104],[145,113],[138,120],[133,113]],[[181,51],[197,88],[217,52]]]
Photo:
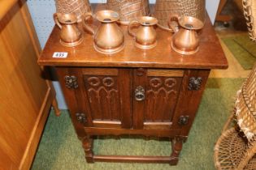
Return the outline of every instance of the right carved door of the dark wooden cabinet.
[[[137,100],[135,91],[134,128],[170,129],[180,94],[183,70],[135,70],[134,88],[144,89],[145,99]]]

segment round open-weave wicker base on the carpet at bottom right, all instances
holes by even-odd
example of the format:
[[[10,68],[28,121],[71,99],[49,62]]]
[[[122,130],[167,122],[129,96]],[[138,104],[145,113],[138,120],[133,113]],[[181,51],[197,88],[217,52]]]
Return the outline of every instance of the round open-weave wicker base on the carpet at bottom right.
[[[215,168],[255,170],[254,150],[255,142],[245,142],[233,128],[227,130],[215,144]]]

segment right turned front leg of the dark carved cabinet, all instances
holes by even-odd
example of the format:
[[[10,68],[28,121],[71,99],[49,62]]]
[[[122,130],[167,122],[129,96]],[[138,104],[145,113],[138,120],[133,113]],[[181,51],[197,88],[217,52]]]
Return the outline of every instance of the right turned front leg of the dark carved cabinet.
[[[183,139],[174,138],[171,141],[171,163],[170,165],[176,165],[179,162],[180,151],[182,150]]]

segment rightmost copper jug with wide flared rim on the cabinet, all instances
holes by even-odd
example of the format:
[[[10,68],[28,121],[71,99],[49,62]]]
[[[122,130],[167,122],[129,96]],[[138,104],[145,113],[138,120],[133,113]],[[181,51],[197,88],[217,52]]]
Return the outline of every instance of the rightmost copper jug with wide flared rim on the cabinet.
[[[173,24],[171,22],[177,22]],[[175,32],[171,40],[171,48],[180,54],[197,53],[199,49],[199,39],[197,31],[203,28],[204,23],[200,19],[191,16],[177,15],[171,16],[169,26]]]

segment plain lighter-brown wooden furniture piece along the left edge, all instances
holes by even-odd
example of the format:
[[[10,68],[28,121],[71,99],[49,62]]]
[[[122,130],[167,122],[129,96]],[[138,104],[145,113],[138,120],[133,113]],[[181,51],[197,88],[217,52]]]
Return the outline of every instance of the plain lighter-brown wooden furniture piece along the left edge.
[[[37,65],[40,50],[26,3],[0,1],[0,169],[30,168],[51,104],[56,106]]]

